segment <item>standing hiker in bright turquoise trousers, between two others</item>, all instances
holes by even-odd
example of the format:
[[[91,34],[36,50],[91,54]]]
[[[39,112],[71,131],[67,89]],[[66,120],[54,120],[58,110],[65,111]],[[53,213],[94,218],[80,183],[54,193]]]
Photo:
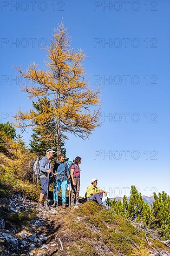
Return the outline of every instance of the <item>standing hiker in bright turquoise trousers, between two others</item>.
[[[62,193],[62,207],[65,209],[66,203],[66,189],[67,189],[67,180],[70,178],[70,171],[65,162],[65,156],[63,154],[58,155],[58,161],[54,164],[53,168],[54,176],[56,176],[54,184],[54,194],[53,194],[53,204],[52,207],[56,207],[58,202],[59,188],[61,187]]]

